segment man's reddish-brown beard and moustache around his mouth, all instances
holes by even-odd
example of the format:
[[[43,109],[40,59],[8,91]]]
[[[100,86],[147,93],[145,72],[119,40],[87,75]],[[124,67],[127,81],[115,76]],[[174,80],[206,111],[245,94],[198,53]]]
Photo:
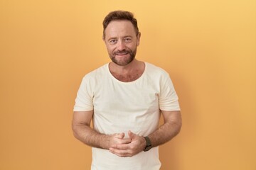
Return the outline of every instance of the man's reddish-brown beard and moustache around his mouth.
[[[110,55],[110,59],[112,60],[112,62],[114,62],[115,64],[119,65],[119,66],[126,66],[127,64],[131,63],[136,55],[137,49],[135,49],[134,51],[132,50],[122,50],[122,51],[117,51],[117,52],[113,52],[113,54],[109,54]],[[129,57],[123,57],[122,59],[117,60],[116,55],[119,54],[128,54]]]

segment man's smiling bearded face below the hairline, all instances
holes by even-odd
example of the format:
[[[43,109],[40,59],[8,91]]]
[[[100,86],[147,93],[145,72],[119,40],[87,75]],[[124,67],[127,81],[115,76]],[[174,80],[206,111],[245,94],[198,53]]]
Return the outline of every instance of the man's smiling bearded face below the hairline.
[[[134,60],[139,45],[140,33],[136,35],[130,21],[111,21],[105,29],[105,45],[110,59],[119,66]]]

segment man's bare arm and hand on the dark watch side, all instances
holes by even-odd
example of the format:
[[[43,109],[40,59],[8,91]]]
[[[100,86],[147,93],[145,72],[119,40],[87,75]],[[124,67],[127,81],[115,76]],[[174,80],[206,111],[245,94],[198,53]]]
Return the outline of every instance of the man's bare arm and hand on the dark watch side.
[[[161,111],[164,116],[164,124],[149,135],[152,147],[162,145],[174,138],[181,130],[181,112],[180,111]],[[119,157],[132,157],[142,152],[146,147],[144,137],[129,132],[132,142],[129,144],[112,145],[110,152]]]

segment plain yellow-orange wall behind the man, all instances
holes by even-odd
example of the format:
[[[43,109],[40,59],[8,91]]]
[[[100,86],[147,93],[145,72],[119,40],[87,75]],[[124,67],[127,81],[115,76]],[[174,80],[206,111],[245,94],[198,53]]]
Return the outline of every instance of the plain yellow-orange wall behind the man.
[[[0,169],[90,169],[71,120],[82,77],[109,62],[108,12],[132,11],[137,59],[166,69],[181,133],[164,170],[256,169],[256,1],[0,0]]]

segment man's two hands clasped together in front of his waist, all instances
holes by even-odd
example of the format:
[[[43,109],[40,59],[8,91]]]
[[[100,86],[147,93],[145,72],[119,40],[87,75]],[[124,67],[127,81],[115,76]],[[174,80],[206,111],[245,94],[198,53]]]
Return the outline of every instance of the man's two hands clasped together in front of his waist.
[[[124,133],[112,135],[112,144],[110,152],[119,157],[132,157],[139,152],[142,152],[146,147],[144,137],[128,131],[129,138],[124,138]]]

